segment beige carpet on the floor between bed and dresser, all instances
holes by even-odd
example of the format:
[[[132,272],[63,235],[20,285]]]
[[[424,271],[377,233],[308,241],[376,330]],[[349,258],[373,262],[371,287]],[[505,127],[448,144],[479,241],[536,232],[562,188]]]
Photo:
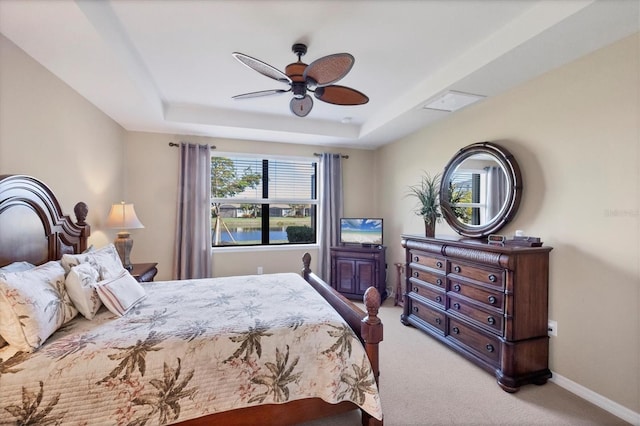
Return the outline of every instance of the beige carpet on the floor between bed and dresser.
[[[387,426],[627,424],[551,382],[504,392],[485,370],[402,325],[401,313],[390,299],[380,310],[380,398]],[[353,411],[305,426],[359,424]]]

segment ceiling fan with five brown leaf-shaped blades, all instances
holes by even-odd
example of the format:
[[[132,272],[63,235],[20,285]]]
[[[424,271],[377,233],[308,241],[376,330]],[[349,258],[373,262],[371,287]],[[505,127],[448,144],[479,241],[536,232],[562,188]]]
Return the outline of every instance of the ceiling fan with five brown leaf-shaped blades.
[[[296,43],[291,47],[291,50],[298,56],[298,62],[287,65],[285,72],[244,53],[232,53],[234,58],[249,68],[289,85],[288,89],[244,93],[233,96],[233,99],[247,99],[293,92],[289,108],[298,117],[305,117],[313,108],[313,99],[307,92],[313,93],[316,99],[334,105],[362,105],[369,102],[369,98],[364,93],[349,87],[333,84],[347,75],[353,67],[355,58],[352,55],[349,53],[336,53],[316,59],[307,65],[301,60],[302,56],[307,53],[305,44]]]

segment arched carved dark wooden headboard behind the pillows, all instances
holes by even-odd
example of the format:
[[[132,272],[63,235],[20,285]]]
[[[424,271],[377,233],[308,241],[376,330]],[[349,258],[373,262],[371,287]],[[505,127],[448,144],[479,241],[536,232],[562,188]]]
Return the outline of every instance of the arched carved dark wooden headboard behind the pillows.
[[[25,175],[0,175],[0,266],[27,261],[40,265],[87,248],[87,206],[76,204],[77,223],[63,215],[54,193]]]

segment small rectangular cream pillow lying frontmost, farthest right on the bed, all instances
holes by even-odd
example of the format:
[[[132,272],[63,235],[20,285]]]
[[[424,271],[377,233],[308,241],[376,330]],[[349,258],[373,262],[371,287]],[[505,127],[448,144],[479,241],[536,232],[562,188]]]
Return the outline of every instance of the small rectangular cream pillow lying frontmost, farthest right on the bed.
[[[144,288],[126,269],[116,278],[100,281],[96,291],[107,309],[119,316],[147,297]]]

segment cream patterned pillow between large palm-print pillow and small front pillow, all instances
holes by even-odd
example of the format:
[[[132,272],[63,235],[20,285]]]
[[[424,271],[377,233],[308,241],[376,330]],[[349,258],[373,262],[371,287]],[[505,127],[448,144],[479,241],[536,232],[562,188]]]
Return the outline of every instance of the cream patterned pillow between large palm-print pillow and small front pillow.
[[[65,287],[71,301],[86,319],[93,319],[102,306],[95,286],[100,274],[90,263],[81,263],[71,268],[65,280]]]

